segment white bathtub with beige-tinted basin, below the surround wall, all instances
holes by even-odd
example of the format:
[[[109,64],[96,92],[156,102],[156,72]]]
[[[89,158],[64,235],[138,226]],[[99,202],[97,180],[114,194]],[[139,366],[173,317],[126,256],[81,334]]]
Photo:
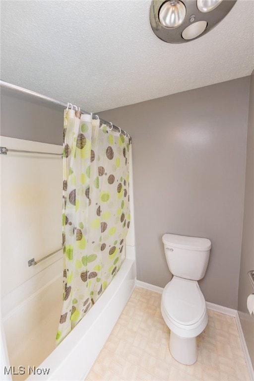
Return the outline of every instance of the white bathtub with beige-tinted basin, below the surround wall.
[[[100,299],[56,348],[62,275],[48,282],[3,319],[5,336],[12,346],[7,345],[11,367],[3,364],[2,380],[84,380],[133,291],[135,276],[135,259],[127,257]],[[19,317],[28,311],[35,315],[38,301],[39,321],[29,324],[28,320],[27,326],[19,326]]]

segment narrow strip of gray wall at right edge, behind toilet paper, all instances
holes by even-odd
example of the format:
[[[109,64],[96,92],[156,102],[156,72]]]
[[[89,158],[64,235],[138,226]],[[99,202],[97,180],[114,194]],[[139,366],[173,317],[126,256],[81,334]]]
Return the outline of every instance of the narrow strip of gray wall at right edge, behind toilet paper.
[[[247,277],[254,270],[254,72],[251,76],[249,124],[246,155],[245,201],[238,310],[246,344],[254,367],[254,316],[250,316],[246,301],[254,293]]]

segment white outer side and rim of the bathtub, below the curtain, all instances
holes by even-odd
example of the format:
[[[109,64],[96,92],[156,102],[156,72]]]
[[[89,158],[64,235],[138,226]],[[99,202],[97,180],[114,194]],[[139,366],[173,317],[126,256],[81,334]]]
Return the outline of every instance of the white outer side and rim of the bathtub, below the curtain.
[[[126,258],[93,308],[28,380],[84,380],[135,286],[135,260]],[[43,375],[43,370],[50,369]],[[45,372],[47,373],[47,371]]]

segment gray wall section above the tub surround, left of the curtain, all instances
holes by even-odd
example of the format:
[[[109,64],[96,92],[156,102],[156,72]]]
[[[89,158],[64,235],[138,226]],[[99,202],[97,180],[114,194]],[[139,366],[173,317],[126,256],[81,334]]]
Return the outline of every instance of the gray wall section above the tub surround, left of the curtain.
[[[1,87],[2,136],[62,144],[63,107]]]

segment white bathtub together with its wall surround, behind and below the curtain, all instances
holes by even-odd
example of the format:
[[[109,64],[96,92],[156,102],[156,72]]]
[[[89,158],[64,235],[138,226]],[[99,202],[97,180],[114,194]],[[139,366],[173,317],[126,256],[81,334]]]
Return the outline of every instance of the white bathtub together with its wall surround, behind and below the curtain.
[[[62,146],[41,142],[5,136],[1,136],[0,141],[1,146],[7,148],[62,152]],[[1,276],[3,282],[1,319],[6,339],[2,342],[4,366],[7,369],[9,365],[14,366],[16,371],[18,366],[25,367],[25,373],[13,374],[14,381],[27,379],[29,367],[50,369],[49,374],[41,374],[40,371],[34,374],[31,371],[29,377],[31,380],[84,380],[135,285],[131,146],[129,163],[131,223],[124,248],[126,260],[93,308],[56,349],[55,339],[63,304],[62,250],[35,266],[28,267],[28,260],[32,257],[40,259],[44,254],[49,254],[53,251],[50,245],[55,244],[59,247],[62,239],[61,156],[8,153],[1,157],[1,167],[4,168],[1,173],[3,180],[1,207],[10,217],[8,223],[1,227],[1,233],[4,234],[4,239],[1,240],[1,253],[8,253],[1,260],[1,271],[3,268],[10,268],[12,263],[18,263],[20,270],[12,282],[7,271],[2,272]],[[15,173],[16,176],[10,176],[10,173]],[[44,189],[48,184],[50,187]],[[16,192],[16,198],[13,192]],[[13,231],[16,231],[19,237],[18,242],[26,243],[24,247],[20,244],[17,246],[15,240],[9,242],[9,234]],[[44,251],[43,254],[40,250]],[[69,362],[73,367],[69,367]],[[9,377],[8,374],[1,375],[2,380],[9,380]]]

